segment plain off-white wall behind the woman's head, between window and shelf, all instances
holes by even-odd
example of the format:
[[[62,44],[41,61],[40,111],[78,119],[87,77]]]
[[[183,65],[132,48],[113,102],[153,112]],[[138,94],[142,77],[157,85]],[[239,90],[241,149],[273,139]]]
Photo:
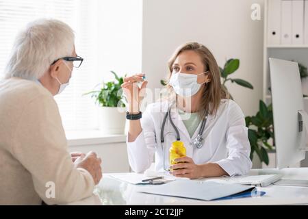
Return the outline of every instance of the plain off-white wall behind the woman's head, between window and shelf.
[[[264,21],[251,20],[253,3],[261,5],[263,16],[264,0],[143,1],[142,72],[149,88],[161,87],[168,58],[180,44],[201,42],[220,66],[231,57],[240,59],[232,77],[250,81],[255,89],[227,87],[246,116],[255,114],[262,99]]]

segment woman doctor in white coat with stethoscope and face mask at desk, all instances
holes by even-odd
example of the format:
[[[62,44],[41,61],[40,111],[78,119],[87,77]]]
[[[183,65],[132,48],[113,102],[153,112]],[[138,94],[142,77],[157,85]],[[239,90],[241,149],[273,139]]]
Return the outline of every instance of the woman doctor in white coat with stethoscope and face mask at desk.
[[[129,103],[127,150],[135,172],[151,166],[172,170],[176,177],[244,175],[251,169],[251,146],[244,114],[220,83],[214,56],[202,44],[184,44],[168,62],[168,99],[139,110],[147,81],[126,77],[123,90]],[[137,83],[143,81],[141,88]],[[180,140],[186,157],[169,166],[169,149]]]

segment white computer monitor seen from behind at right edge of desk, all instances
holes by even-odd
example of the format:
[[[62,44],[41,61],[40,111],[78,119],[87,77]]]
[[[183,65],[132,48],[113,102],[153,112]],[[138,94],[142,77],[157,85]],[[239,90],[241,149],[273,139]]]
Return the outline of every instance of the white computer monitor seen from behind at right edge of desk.
[[[270,83],[274,116],[277,168],[305,159],[307,113],[298,63],[270,58]]]

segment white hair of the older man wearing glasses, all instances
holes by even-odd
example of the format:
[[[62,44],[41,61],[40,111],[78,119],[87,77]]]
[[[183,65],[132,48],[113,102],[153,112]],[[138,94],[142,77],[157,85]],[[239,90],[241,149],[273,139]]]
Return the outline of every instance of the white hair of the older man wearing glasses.
[[[71,56],[75,34],[66,23],[53,19],[33,21],[14,42],[5,78],[39,79],[60,57]]]

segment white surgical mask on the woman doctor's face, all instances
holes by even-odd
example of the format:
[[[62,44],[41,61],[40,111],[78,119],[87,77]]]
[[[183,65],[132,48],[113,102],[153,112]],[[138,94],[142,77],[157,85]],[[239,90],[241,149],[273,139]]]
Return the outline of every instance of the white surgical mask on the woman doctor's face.
[[[205,73],[208,73],[208,71]],[[205,73],[198,75],[203,75]],[[197,82],[198,75],[172,73],[169,84],[175,90],[175,93],[180,96],[194,96],[194,94],[196,94],[203,85],[203,83]]]

